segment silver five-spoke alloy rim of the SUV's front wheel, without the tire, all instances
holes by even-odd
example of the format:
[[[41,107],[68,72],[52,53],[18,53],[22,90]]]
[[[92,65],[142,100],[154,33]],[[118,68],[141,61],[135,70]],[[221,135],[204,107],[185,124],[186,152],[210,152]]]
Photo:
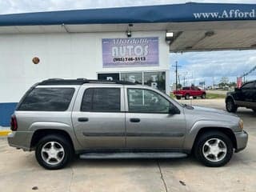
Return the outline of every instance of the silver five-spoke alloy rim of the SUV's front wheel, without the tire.
[[[226,157],[226,143],[219,138],[210,138],[202,146],[203,156],[210,162],[220,162]]]

